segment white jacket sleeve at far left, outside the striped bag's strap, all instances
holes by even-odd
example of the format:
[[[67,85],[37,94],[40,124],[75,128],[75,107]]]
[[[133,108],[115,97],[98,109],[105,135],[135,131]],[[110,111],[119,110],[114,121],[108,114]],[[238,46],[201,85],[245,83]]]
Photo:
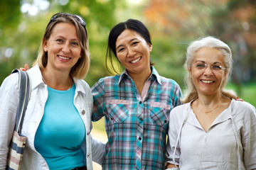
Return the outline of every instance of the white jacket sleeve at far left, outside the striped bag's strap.
[[[18,96],[18,74],[11,74],[4,79],[0,87],[0,169],[6,169],[9,143],[16,121]]]

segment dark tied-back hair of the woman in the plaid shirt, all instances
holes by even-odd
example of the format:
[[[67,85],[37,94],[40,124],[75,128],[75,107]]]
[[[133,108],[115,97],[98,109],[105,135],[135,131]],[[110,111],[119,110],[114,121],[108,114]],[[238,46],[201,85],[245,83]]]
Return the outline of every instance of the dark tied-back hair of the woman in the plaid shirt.
[[[129,19],[125,22],[117,24],[117,26],[114,26],[114,28],[110,30],[110,35],[108,38],[108,45],[107,45],[107,55],[105,60],[107,71],[110,73],[114,72],[119,74],[117,72],[117,69],[114,68],[112,53],[114,53],[114,56],[117,59],[116,42],[117,42],[117,38],[124,30],[133,30],[136,33],[139,33],[139,35],[141,35],[142,38],[144,38],[144,40],[146,40],[146,42],[148,42],[150,45],[152,44],[150,40],[149,30],[139,20]],[[108,61],[110,61],[110,66],[107,64]],[[150,65],[153,65],[153,64],[150,62]]]

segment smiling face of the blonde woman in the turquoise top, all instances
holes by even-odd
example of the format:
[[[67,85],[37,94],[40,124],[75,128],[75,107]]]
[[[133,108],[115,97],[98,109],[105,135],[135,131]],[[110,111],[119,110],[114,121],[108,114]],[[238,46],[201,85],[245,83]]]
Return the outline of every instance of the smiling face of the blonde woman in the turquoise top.
[[[56,24],[50,38],[44,40],[43,50],[48,52],[47,69],[70,72],[82,50],[75,26],[72,23]]]

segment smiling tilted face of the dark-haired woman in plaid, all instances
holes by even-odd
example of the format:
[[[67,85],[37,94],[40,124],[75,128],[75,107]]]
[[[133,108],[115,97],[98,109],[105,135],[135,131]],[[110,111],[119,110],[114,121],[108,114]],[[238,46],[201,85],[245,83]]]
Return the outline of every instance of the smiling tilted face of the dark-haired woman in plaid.
[[[144,74],[149,76],[150,52],[152,45],[133,30],[124,30],[117,38],[117,59],[130,74]]]

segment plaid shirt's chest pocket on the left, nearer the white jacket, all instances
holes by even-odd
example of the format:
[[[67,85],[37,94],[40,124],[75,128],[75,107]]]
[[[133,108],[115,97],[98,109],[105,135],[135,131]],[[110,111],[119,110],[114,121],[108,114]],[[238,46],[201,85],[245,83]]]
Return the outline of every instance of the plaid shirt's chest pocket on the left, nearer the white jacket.
[[[114,123],[123,123],[129,116],[129,103],[126,100],[110,100],[107,101],[107,112],[110,120]]]

